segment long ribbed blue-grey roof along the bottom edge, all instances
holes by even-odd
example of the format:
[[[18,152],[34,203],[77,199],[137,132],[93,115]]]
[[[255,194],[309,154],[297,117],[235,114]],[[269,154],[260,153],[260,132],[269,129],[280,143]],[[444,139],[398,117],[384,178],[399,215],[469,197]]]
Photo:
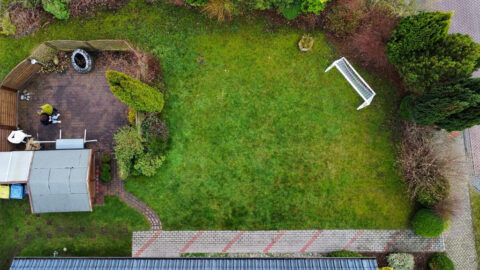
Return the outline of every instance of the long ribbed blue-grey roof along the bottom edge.
[[[375,258],[15,258],[10,270],[376,270]]]

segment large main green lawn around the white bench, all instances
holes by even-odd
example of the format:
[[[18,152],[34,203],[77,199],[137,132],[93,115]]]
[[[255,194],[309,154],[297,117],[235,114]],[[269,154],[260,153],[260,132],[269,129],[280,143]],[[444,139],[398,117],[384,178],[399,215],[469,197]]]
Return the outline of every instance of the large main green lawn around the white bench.
[[[264,18],[219,24],[197,11],[129,4],[116,13],[55,22],[0,38],[0,78],[52,39],[128,39],[162,60],[167,162],[127,188],[165,229],[405,228],[412,211],[389,121],[395,87],[365,75],[360,97],[335,70],[320,32],[302,54],[302,31]]]

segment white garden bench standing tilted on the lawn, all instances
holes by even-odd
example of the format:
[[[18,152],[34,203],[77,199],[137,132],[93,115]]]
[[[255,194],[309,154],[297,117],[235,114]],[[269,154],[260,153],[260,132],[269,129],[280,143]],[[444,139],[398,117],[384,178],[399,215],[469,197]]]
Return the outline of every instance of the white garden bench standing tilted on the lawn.
[[[333,62],[325,72],[328,72],[331,68],[336,67],[340,73],[347,79],[347,81],[353,86],[355,91],[363,98],[364,102],[357,110],[367,107],[376,95],[373,89],[363,80],[363,78],[357,73],[345,57],[342,57]]]

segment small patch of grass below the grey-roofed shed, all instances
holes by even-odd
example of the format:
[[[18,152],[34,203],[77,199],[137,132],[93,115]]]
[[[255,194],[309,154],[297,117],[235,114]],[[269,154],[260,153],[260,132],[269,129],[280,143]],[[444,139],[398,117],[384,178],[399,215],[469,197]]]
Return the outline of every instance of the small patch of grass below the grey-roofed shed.
[[[130,256],[131,232],[148,230],[145,218],[116,197],[92,213],[32,215],[28,199],[0,200],[0,269],[13,256]],[[63,251],[66,247],[67,251]]]

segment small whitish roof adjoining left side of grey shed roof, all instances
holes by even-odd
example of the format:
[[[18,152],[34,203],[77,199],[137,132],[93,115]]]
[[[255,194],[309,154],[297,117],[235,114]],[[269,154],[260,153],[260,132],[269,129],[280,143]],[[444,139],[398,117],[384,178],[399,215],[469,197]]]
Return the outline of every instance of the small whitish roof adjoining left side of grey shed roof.
[[[26,183],[32,151],[0,152],[0,184]]]

